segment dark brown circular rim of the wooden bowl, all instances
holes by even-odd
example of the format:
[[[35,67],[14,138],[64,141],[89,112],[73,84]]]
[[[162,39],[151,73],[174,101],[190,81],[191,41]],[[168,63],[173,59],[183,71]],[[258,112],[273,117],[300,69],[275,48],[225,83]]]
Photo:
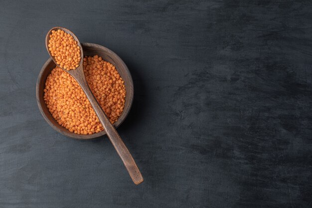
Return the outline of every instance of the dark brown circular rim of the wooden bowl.
[[[133,85],[133,79],[132,79],[132,76],[131,76],[131,73],[129,71],[129,68],[127,67],[127,65],[125,64],[125,62],[112,50],[110,50],[109,48],[107,47],[104,47],[102,45],[99,45],[99,44],[95,44],[95,43],[88,43],[88,42],[83,42],[81,43],[82,45],[82,48],[87,46],[87,47],[92,47],[92,46],[97,46],[101,49],[103,49],[104,51],[110,53],[110,55],[113,55],[115,59],[118,59],[118,61],[120,61],[120,63],[123,65],[125,71],[127,72],[127,74],[129,75],[129,85],[130,87],[132,87],[133,90],[130,90],[130,100],[129,100],[129,107],[127,108],[126,111],[123,111],[122,115],[118,118],[118,120],[113,124],[115,128],[118,128],[124,121],[125,119],[127,118],[130,110],[131,110],[131,107],[132,107],[132,104],[133,104],[133,100],[134,100],[134,85]],[[89,140],[89,139],[95,139],[95,138],[98,138],[98,137],[101,137],[103,135],[106,135],[106,132],[105,130],[101,131],[101,132],[98,132],[98,133],[94,133],[94,134],[87,134],[87,135],[83,135],[83,134],[75,134],[73,132],[70,132],[69,130],[67,130],[66,128],[64,127],[61,127],[63,128],[64,130],[61,131],[59,128],[57,128],[50,120],[49,118],[47,117],[47,115],[43,112],[43,108],[40,104],[40,100],[39,100],[39,83],[40,83],[40,80],[42,79],[42,75],[43,75],[43,72],[45,71],[45,68],[48,66],[48,64],[50,62],[53,62],[52,58],[49,57],[48,60],[43,64],[43,66],[41,67],[41,70],[38,74],[38,78],[37,78],[37,82],[36,82],[36,100],[37,100],[37,105],[38,105],[38,108],[39,108],[39,111],[42,115],[42,117],[44,118],[44,120],[55,130],[57,131],[58,133],[61,133],[62,135],[66,136],[66,137],[70,137],[70,138],[73,138],[73,139],[78,139],[78,140]],[[128,92],[127,92],[128,93]],[[125,114],[124,114],[125,112]],[[49,114],[51,114],[49,111],[48,111]],[[51,115],[52,117],[52,115]],[[52,117],[53,118],[53,117]],[[53,118],[54,119],[54,118]]]

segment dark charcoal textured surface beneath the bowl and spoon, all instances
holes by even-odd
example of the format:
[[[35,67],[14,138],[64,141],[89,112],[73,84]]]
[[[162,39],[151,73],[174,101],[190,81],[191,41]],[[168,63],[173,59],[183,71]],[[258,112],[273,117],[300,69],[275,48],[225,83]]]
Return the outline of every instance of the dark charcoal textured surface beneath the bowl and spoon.
[[[312,3],[0,1],[0,208],[311,208]],[[46,32],[74,31],[129,66],[118,129],[76,141],[41,117]]]

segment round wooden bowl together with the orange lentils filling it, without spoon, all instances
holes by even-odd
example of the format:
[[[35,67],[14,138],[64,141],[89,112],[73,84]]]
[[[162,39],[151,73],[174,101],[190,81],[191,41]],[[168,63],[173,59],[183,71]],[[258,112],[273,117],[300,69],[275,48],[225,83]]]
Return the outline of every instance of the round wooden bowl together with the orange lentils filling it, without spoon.
[[[82,43],[84,74],[107,114],[118,127],[133,101],[133,81],[122,59],[101,45]],[[105,134],[78,83],[49,59],[41,69],[36,87],[37,102],[45,120],[58,132],[76,139]]]

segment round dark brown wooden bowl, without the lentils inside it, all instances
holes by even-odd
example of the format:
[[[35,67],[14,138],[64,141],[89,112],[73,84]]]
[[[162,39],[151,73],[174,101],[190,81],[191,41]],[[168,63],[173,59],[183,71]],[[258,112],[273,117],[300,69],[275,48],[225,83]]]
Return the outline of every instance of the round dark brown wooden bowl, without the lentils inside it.
[[[121,116],[118,118],[118,120],[114,123],[115,128],[117,128],[127,117],[132,102],[133,102],[133,81],[131,74],[129,72],[128,67],[124,63],[124,61],[113,51],[110,49],[94,44],[94,43],[81,43],[83,54],[88,56],[94,56],[99,55],[101,56],[105,61],[108,61],[112,63],[117,71],[119,72],[120,76],[125,81],[125,87],[126,87],[126,100],[125,100],[125,108]],[[74,139],[93,139],[96,137],[100,137],[106,134],[105,131],[101,131],[99,133],[94,134],[88,134],[88,135],[82,135],[82,134],[75,134],[73,132],[70,132],[69,130],[65,129],[64,127],[60,126],[57,121],[52,117],[52,114],[49,112],[44,100],[44,87],[45,87],[45,81],[48,77],[48,75],[51,73],[52,69],[55,68],[56,64],[53,62],[51,58],[49,58],[45,64],[42,66],[41,71],[39,73],[38,79],[37,79],[37,85],[36,85],[36,97],[37,97],[37,103],[39,110],[43,116],[43,118],[48,122],[48,124],[55,129],[57,132]]]

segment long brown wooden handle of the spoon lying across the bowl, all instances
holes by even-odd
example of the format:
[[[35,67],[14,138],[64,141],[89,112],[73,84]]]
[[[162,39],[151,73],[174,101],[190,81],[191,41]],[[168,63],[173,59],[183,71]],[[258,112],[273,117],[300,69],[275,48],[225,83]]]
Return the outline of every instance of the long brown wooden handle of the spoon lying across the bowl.
[[[78,78],[76,77],[77,82],[80,84],[82,90],[86,94],[87,98],[89,99],[96,115],[98,116],[100,122],[103,125],[104,130],[108,138],[111,140],[115,150],[117,151],[118,155],[124,162],[126,169],[133,180],[133,182],[138,185],[143,182],[143,177],[140,173],[140,170],[134,161],[133,157],[131,156],[128,148],[126,147],[123,140],[120,138],[118,132],[116,131],[115,127],[111,124],[110,120],[107,118],[105,112],[100,107],[100,104],[94,97],[87,81],[84,77]]]

